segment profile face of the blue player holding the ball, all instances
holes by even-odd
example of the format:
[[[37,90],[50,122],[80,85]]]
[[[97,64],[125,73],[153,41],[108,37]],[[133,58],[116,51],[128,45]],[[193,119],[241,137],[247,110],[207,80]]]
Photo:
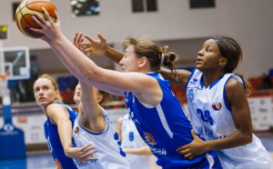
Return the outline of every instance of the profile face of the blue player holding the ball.
[[[126,48],[123,58],[119,62],[123,72],[138,72],[140,58],[136,57],[134,45]]]

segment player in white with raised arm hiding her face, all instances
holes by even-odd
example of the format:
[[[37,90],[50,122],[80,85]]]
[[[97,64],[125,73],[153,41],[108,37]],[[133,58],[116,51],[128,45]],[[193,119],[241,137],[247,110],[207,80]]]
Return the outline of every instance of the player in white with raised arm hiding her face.
[[[81,39],[81,37],[74,39],[74,45],[78,48],[80,48]],[[78,107],[78,114],[73,127],[73,138],[76,147],[92,144],[97,151],[92,155],[97,161],[84,162],[83,157],[78,158],[78,154],[67,154],[76,160],[78,168],[130,168],[126,161],[126,154],[121,149],[116,129],[110,122],[106,110],[100,106],[106,100],[107,94],[96,87],[84,82],[76,85],[74,101]]]

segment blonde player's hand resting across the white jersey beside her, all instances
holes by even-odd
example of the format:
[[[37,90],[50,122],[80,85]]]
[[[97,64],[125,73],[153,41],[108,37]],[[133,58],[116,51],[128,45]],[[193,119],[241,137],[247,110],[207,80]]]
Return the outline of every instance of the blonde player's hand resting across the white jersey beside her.
[[[95,147],[91,147],[91,144],[87,144],[81,148],[79,147],[69,147],[66,149],[66,156],[75,159],[77,162],[84,164],[86,166],[86,161],[96,161],[96,157],[91,157],[90,155],[95,154],[97,150]],[[93,151],[91,151],[93,150]]]

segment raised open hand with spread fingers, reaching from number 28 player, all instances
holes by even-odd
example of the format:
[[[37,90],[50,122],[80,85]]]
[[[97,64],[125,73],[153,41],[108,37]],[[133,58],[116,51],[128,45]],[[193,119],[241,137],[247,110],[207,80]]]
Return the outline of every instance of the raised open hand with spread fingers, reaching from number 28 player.
[[[94,40],[88,35],[84,35],[84,37],[90,42],[90,43],[81,43],[81,45],[86,46],[85,52],[87,53],[87,56],[105,54],[106,48],[107,48],[106,38],[104,38],[99,33],[97,33],[97,37],[100,40]]]

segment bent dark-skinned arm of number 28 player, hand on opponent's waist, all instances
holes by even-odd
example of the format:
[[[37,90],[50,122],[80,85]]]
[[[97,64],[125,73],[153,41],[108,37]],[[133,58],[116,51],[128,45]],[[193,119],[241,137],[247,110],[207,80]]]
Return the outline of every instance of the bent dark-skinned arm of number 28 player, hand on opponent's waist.
[[[192,159],[210,150],[233,148],[252,142],[252,122],[248,100],[242,84],[230,78],[226,84],[227,103],[231,107],[234,124],[238,128],[233,134],[225,138],[203,142],[194,135],[194,141],[177,149],[177,152]]]

